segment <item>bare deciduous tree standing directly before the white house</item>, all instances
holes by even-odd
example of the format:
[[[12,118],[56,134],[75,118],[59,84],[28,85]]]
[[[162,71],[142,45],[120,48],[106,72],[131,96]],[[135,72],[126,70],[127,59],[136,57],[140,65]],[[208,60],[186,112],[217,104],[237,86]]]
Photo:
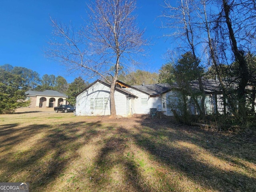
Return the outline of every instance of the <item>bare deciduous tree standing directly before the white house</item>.
[[[114,91],[120,67],[131,64],[146,43],[144,31],[136,23],[135,9],[135,0],[92,1],[88,5],[89,20],[78,32],[51,19],[57,38],[50,42],[50,55],[71,70],[80,68],[86,76],[110,83],[111,116],[116,116]]]

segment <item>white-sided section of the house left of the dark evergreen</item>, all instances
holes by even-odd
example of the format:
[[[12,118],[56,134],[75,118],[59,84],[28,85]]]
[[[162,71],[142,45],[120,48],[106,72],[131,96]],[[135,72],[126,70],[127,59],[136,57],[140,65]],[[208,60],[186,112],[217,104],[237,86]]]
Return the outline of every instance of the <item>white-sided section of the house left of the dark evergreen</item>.
[[[116,114],[124,117],[149,114],[150,108],[158,108],[166,114],[166,101],[162,94],[169,90],[169,84],[129,86],[118,81],[115,90]],[[110,115],[110,84],[96,80],[78,93],[76,115]]]

